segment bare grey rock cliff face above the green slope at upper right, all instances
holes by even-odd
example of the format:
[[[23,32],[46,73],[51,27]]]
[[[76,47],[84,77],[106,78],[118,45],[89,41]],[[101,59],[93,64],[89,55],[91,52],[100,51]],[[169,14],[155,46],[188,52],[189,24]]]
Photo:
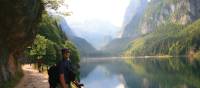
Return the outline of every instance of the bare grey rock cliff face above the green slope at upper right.
[[[140,22],[140,32],[146,34],[167,22],[188,24],[200,17],[199,0],[152,0]]]

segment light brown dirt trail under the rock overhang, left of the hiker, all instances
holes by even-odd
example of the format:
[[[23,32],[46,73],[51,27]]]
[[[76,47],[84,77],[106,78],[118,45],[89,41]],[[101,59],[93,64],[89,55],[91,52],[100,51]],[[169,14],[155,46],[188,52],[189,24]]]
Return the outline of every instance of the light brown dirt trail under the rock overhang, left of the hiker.
[[[39,73],[30,65],[22,66],[24,77],[15,88],[49,88],[48,75]]]

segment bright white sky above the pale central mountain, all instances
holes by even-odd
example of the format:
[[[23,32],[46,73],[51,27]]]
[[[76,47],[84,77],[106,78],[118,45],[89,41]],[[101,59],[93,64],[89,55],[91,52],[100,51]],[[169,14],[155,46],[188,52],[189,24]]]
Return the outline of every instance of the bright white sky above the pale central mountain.
[[[103,20],[121,27],[130,0],[66,0],[74,22]]]

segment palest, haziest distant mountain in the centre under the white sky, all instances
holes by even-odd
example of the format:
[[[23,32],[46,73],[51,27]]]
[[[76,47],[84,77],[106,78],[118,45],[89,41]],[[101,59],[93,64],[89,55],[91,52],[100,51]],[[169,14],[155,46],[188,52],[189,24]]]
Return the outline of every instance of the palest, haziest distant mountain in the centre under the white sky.
[[[89,41],[96,49],[101,49],[110,39],[117,37],[119,28],[104,20],[92,19],[71,23],[74,33]]]

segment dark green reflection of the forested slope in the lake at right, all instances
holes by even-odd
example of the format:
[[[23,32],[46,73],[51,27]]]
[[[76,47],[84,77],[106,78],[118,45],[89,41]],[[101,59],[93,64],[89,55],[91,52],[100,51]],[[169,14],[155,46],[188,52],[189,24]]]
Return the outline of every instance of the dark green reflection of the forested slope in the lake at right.
[[[133,64],[144,69],[144,72],[138,75],[147,79],[147,88],[200,88],[198,60],[190,62],[186,58],[135,59]]]

